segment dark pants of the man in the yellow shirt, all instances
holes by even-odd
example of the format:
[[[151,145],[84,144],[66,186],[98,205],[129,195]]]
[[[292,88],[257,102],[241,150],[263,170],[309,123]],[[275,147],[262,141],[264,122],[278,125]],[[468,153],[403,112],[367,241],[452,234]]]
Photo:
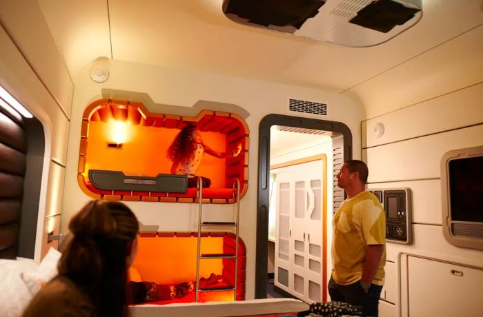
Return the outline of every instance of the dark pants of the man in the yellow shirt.
[[[362,316],[377,316],[381,291],[382,286],[371,284],[366,293],[359,281],[349,285],[338,285],[331,277],[328,282],[328,294],[331,295],[331,300],[362,306]]]

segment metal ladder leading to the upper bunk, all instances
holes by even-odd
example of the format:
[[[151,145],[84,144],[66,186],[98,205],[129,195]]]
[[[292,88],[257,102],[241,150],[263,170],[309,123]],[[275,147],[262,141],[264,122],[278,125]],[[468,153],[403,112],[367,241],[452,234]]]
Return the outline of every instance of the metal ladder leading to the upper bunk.
[[[201,177],[198,178],[197,185],[197,198],[198,198],[198,249],[196,260],[196,297],[195,301],[198,302],[199,292],[221,292],[221,291],[233,291],[233,300],[237,300],[237,282],[238,282],[238,222],[240,211],[240,181],[238,178],[233,181],[233,195],[235,195],[236,189],[236,221],[203,221],[203,183]],[[233,227],[235,228],[235,254],[200,254],[201,252],[201,229],[204,227]],[[199,287],[199,263],[200,260],[213,259],[213,258],[235,258],[235,285],[233,287]]]

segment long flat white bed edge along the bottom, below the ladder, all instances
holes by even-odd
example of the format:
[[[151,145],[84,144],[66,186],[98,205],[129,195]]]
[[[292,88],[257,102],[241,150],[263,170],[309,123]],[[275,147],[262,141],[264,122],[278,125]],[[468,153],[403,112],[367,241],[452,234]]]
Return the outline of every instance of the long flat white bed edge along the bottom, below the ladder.
[[[223,317],[284,314],[308,310],[308,304],[292,298],[264,298],[236,302],[175,303],[129,307],[132,317]]]

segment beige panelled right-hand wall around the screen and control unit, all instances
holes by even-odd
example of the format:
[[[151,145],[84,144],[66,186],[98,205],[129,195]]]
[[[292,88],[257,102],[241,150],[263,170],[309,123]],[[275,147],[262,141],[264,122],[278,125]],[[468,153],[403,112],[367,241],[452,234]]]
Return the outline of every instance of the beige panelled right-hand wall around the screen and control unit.
[[[483,145],[483,83],[435,96],[362,122],[362,157],[370,170],[369,188],[409,187],[413,193],[413,244],[387,243],[386,300],[382,316],[406,316],[406,254],[483,269],[483,252],[455,247],[443,236],[440,162],[445,152]],[[384,124],[377,138],[374,127]],[[483,271],[481,272],[483,274]],[[450,292],[452,287],[442,292]],[[458,289],[457,292],[463,292]],[[431,296],[437,300],[437,294]],[[440,303],[450,305],[449,303]],[[477,304],[475,303],[475,308]]]

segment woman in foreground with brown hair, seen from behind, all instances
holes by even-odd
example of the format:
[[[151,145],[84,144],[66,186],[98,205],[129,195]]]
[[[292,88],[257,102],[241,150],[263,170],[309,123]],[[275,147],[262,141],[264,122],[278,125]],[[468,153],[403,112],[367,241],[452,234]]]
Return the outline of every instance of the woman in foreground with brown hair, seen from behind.
[[[69,223],[73,235],[59,275],[42,287],[23,316],[128,316],[127,270],[139,225],[123,203],[91,201]]]

